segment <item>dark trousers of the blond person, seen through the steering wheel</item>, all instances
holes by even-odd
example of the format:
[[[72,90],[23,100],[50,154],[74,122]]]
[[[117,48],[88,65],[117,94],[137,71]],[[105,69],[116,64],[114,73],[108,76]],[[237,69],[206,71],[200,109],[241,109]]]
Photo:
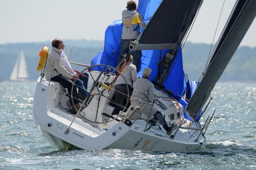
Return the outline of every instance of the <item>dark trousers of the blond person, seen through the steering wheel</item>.
[[[129,96],[131,96],[132,88],[130,85],[128,85],[128,88],[129,88]],[[115,85],[116,106],[111,115],[119,115],[119,112],[123,109],[125,104],[124,99],[130,102],[130,97],[128,97],[127,95],[128,95],[128,91],[127,91],[126,84]],[[129,107],[129,105],[130,104],[128,104],[127,107]]]

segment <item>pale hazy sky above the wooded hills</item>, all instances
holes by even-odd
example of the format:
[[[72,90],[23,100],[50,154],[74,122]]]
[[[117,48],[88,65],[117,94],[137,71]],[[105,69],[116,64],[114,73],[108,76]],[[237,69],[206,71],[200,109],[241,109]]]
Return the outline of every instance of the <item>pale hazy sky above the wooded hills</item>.
[[[0,44],[52,41],[54,38],[104,40],[106,28],[122,18],[127,1],[1,0]],[[223,2],[204,0],[187,41],[212,43]],[[214,42],[218,40],[234,4],[235,0],[225,0]],[[255,19],[240,45],[256,46],[254,30]]]

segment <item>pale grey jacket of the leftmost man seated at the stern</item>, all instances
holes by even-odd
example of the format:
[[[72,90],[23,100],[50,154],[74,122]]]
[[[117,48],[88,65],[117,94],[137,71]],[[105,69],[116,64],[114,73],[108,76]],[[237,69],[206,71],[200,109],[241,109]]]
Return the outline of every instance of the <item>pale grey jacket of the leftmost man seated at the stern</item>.
[[[45,72],[44,72],[46,80],[50,80],[51,71],[52,71],[51,78],[57,76],[58,74],[65,75],[69,79],[73,78],[74,75],[68,72],[68,70],[66,70],[63,67],[63,63],[60,58],[60,53],[61,51],[58,48],[52,47],[51,55],[54,57],[55,60],[53,64],[53,58],[51,56],[47,57],[47,62],[46,62]],[[52,70],[52,64],[53,64],[53,70]]]

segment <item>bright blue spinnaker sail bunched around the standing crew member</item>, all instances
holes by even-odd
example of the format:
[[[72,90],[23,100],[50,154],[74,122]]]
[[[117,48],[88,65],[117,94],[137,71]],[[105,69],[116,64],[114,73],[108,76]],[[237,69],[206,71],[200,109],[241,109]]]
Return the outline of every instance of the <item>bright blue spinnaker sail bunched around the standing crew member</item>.
[[[143,15],[145,22],[148,22],[150,20],[161,2],[162,0],[139,1],[137,9]],[[119,42],[122,36],[122,27],[122,20],[114,21],[108,26],[105,32],[104,51],[101,51],[92,59],[91,66],[96,64],[106,64],[113,51],[116,49],[115,53],[111,57],[111,60],[108,62],[109,66],[116,67],[117,56],[120,50]],[[162,50],[162,58],[164,57],[166,51],[167,50]],[[157,76],[158,62],[159,50],[142,50],[141,66],[140,71],[138,72],[138,76],[142,77],[142,70],[144,68],[151,68],[152,72],[150,80],[153,80]],[[179,49],[179,52],[177,53],[177,57],[175,58],[174,62],[175,65],[173,66],[173,68],[170,68],[172,72],[169,76],[167,76],[168,79],[164,81],[163,85],[166,89],[171,90],[173,92],[173,96],[179,100],[179,95],[182,95],[186,89],[181,48]],[[103,67],[93,67],[92,69],[101,71],[102,68]]]

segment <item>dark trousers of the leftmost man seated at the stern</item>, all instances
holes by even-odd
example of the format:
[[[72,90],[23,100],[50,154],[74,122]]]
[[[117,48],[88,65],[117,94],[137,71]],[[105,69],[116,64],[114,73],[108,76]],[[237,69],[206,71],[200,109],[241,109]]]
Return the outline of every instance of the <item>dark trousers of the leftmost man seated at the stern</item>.
[[[68,81],[67,79],[68,78],[65,77],[64,75],[59,74],[55,77],[52,77],[51,81],[57,81],[57,82],[60,83],[61,86],[68,89],[68,94],[70,95],[69,100],[70,100],[70,103],[72,105],[73,104],[72,100],[71,100],[72,83],[70,81]],[[74,104],[79,103],[79,101],[77,100],[77,96],[76,96],[76,87],[73,88],[73,101],[74,101]]]

